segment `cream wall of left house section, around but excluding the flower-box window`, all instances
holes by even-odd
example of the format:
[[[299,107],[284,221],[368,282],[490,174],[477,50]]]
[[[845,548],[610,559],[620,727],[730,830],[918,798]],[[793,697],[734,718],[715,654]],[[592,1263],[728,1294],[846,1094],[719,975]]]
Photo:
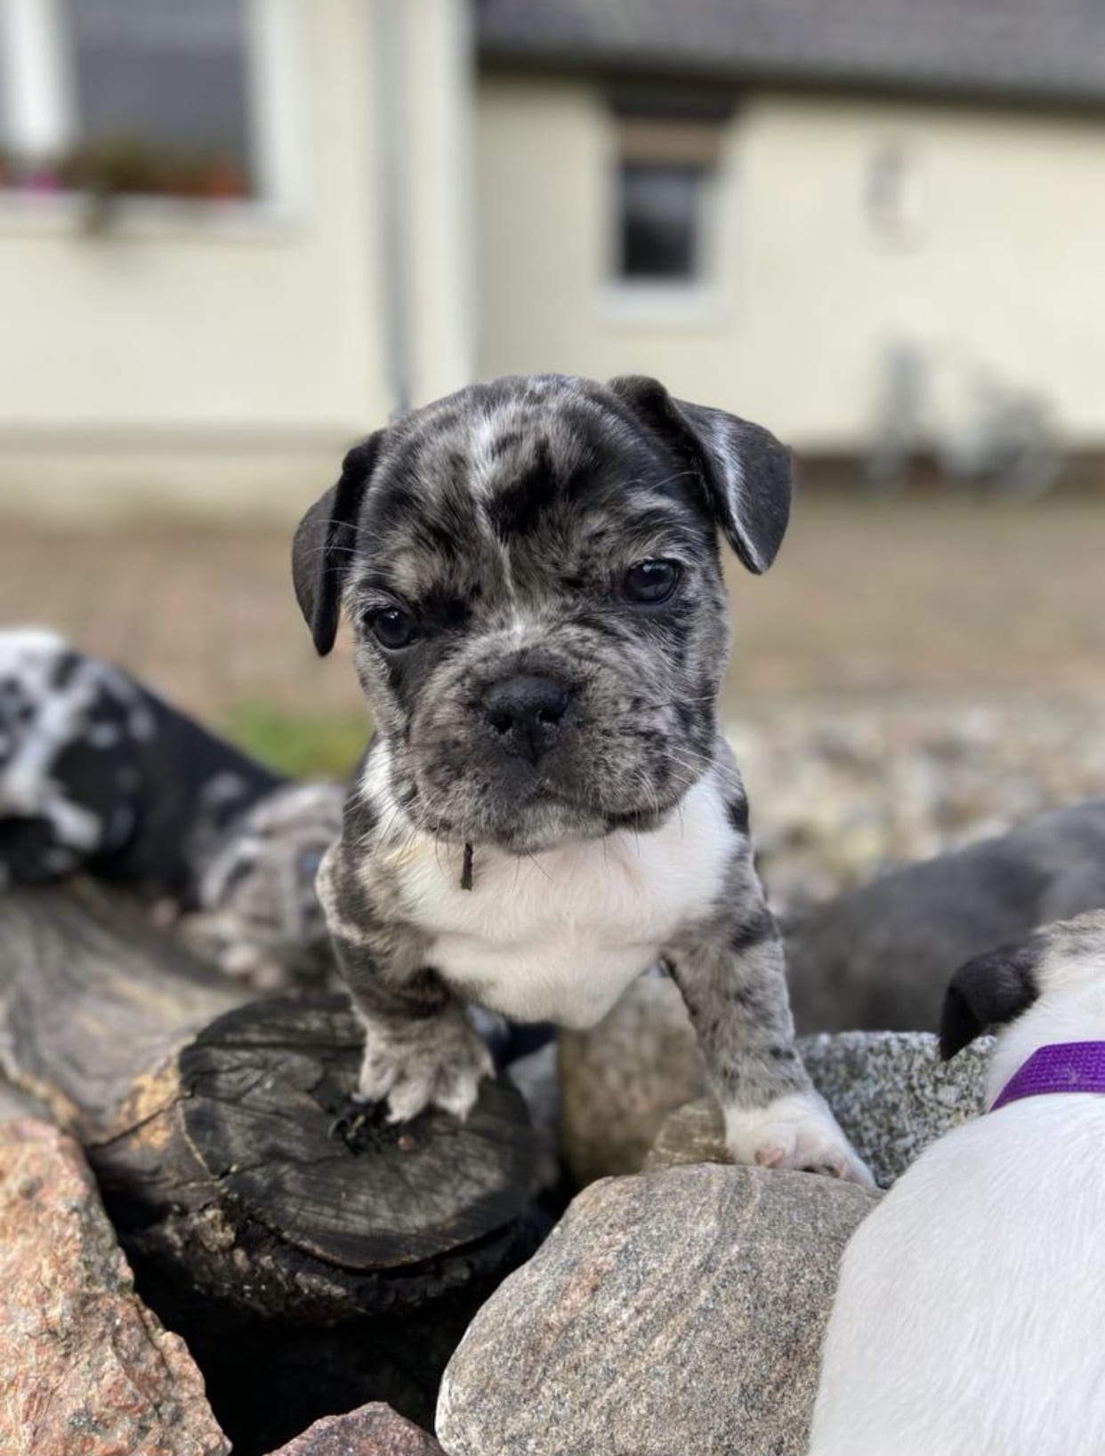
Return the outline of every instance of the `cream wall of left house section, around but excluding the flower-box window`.
[[[415,397],[470,374],[467,256],[443,246],[464,207],[463,4],[252,3],[280,12],[291,195],[134,202],[103,236],[79,198],[0,199],[0,508],[293,513],[395,409],[396,331]],[[403,297],[389,246],[411,253]]]

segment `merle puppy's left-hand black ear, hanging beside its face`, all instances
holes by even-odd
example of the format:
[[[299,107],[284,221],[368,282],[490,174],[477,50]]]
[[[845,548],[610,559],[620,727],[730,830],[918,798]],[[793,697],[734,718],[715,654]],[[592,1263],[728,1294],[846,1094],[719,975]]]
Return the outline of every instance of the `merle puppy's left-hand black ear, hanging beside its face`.
[[[291,579],[296,600],[307,619],[319,657],[338,635],[342,582],[357,542],[357,517],[364,499],[383,431],[354,446],[342,460],[342,473],[307,511],[291,543]]]

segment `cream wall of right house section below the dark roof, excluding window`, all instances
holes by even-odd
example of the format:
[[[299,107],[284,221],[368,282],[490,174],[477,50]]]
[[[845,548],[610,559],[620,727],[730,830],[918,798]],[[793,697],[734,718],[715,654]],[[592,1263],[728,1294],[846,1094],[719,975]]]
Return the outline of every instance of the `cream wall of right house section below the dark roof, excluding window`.
[[[879,147],[904,236],[872,224]],[[476,122],[478,370],[660,376],[807,450],[866,438],[888,344],[1037,390],[1105,441],[1105,116],[751,93],[725,125],[706,287],[611,282],[616,130],[582,80],[488,74]]]

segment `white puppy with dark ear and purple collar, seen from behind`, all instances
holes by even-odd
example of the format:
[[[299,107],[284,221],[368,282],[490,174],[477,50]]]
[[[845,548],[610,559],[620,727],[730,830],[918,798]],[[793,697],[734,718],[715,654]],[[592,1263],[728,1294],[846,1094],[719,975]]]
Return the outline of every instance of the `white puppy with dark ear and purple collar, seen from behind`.
[[[968,961],[943,1056],[987,1026],[997,1107],[844,1252],[809,1456],[1105,1453],[1105,911]]]

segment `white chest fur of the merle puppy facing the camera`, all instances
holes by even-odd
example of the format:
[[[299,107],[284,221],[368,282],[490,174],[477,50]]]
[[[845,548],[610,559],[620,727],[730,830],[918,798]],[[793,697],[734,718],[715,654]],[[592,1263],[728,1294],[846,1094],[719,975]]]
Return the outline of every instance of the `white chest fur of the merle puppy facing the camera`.
[[[429,962],[466,1000],[520,1021],[594,1025],[678,929],[721,891],[734,830],[713,776],[648,834],[619,833],[517,858],[460,849],[403,852],[403,900],[429,938]]]

